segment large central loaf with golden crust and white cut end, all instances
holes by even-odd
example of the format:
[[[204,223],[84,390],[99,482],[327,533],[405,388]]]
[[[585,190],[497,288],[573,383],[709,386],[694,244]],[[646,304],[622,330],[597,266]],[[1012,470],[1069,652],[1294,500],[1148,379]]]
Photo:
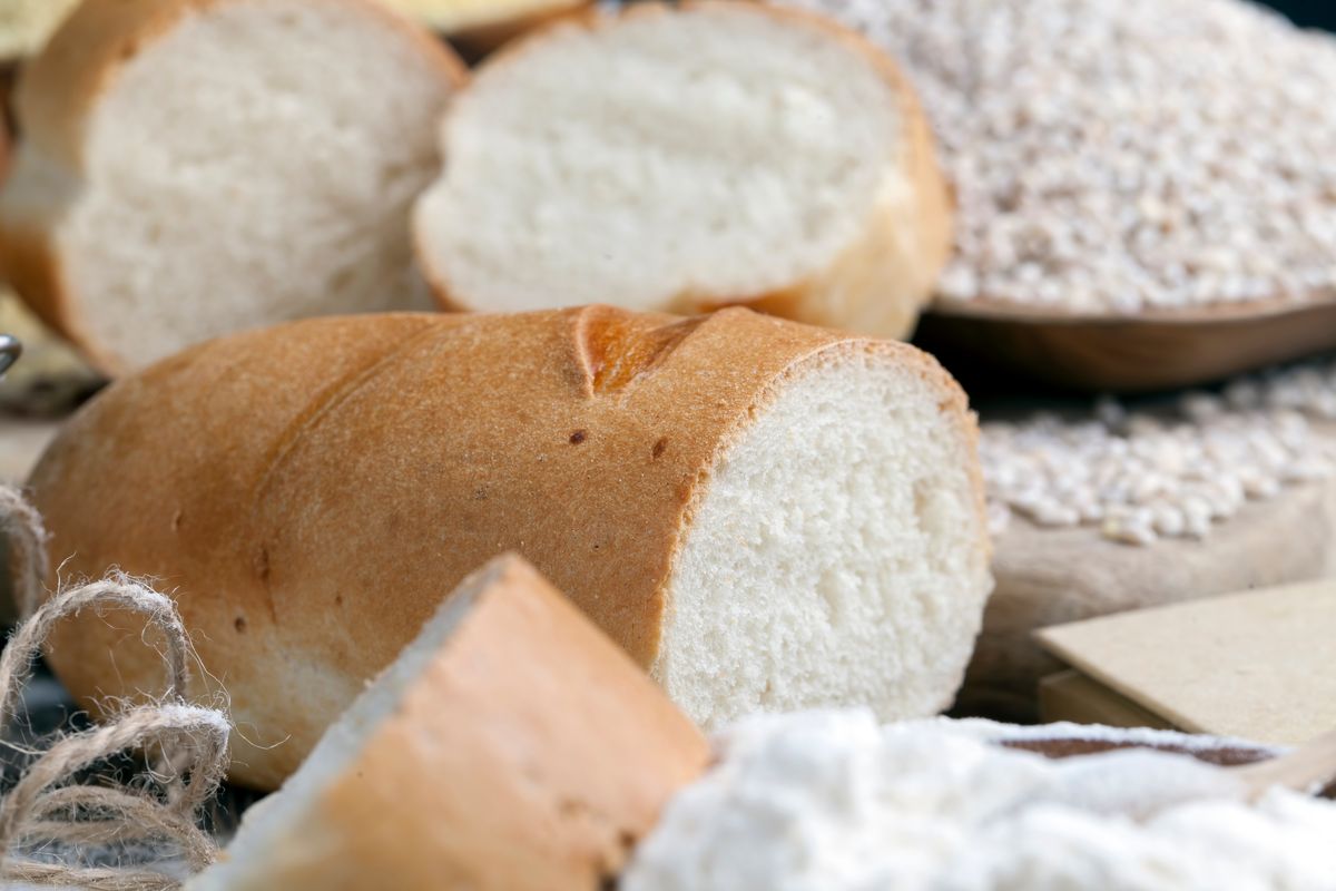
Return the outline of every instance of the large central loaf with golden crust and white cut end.
[[[965,395],[918,350],[731,309],[306,321],[103,391],[31,478],[65,574],[158,578],[273,785],[516,550],[704,725],[950,703],[987,530]],[[132,622],[63,627],[84,703],[147,688]]]

